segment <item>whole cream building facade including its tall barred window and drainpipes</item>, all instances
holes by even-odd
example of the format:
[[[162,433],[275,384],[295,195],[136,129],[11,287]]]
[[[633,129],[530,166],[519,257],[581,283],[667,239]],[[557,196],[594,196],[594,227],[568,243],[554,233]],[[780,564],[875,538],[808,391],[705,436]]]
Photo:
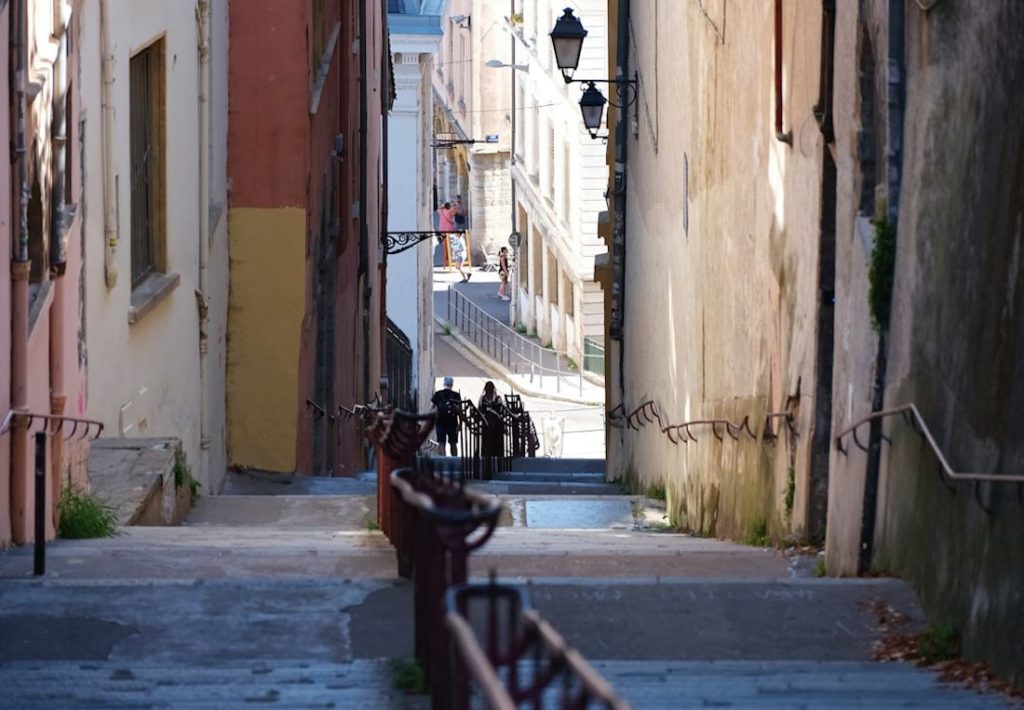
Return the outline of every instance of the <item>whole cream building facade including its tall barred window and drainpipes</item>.
[[[89,414],[226,471],[227,1],[82,0]]]

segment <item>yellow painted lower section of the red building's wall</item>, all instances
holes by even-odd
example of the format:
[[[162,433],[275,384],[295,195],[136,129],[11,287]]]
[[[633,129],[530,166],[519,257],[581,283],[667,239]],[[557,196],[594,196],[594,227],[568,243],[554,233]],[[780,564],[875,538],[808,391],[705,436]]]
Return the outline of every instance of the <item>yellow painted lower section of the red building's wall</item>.
[[[295,469],[304,209],[233,208],[227,321],[227,445],[233,465]]]

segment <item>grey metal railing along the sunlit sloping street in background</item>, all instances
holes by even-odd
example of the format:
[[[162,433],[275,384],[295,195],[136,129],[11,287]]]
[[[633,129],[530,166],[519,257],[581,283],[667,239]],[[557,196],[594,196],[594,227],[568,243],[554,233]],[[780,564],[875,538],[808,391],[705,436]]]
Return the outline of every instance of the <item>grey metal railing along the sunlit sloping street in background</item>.
[[[562,378],[575,379],[579,392],[583,395],[583,366],[578,365],[574,372],[569,368],[563,369],[561,359],[569,359],[566,351],[544,347],[523,337],[452,287],[449,287],[447,294],[449,325],[462,331],[487,356],[515,374],[528,375],[530,382],[537,376],[543,385],[545,376],[554,377],[558,391],[561,391]],[[554,368],[544,364],[545,354],[554,358]]]

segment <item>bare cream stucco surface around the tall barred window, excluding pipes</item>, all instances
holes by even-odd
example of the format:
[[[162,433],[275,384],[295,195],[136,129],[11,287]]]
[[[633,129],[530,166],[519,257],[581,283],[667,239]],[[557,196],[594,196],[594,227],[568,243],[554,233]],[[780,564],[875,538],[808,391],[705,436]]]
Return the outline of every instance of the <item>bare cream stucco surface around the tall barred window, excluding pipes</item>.
[[[223,161],[226,126],[226,2],[211,3],[214,16],[214,95],[211,106],[211,162]],[[193,473],[204,492],[216,491],[224,473],[223,392],[224,318],[226,314],[226,224],[211,223],[210,308],[207,391],[201,391],[200,213],[210,205],[199,194],[199,32],[193,3],[137,0],[109,3],[111,45],[115,53],[111,97],[115,107],[114,164],[104,165],[100,27],[98,0],[79,4],[81,76],[78,87],[85,136],[86,333],[89,414],[112,435],[175,436],[181,440]],[[177,286],[138,322],[129,324],[131,302],[131,166],[129,135],[130,59],[163,38],[166,43],[166,264],[179,277]],[[103,268],[103,170],[113,170],[118,194],[117,284],[108,288]],[[211,192],[223,200],[220,168]],[[219,182],[218,182],[219,180]],[[218,186],[219,185],[219,186]],[[212,196],[216,199],[216,196]],[[201,443],[202,407],[210,426],[210,449]],[[219,438],[218,438],[219,437]]]

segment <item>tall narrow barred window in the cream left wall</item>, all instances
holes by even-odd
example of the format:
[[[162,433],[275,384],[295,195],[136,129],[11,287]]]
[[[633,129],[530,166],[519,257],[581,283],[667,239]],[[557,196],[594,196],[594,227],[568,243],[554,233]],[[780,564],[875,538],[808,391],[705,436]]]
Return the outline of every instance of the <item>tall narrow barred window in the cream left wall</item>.
[[[131,58],[131,282],[164,264],[164,41]]]

